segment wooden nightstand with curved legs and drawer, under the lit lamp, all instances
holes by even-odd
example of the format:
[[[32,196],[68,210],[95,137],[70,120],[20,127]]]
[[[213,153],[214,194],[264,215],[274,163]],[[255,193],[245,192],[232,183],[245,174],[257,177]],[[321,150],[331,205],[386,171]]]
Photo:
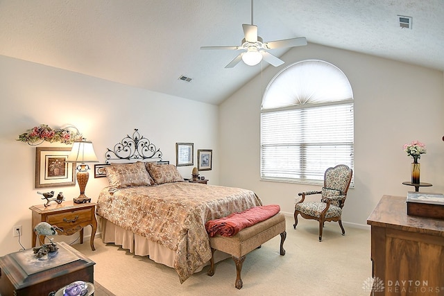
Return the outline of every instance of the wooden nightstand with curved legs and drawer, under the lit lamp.
[[[50,204],[48,207],[39,204],[29,209],[33,211],[33,229],[38,223],[47,222],[63,229],[63,232],[58,231],[59,235],[70,236],[80,231],[80,243],[83,243],[83,227],[91,225],[91,249],[93,251],[96,250],[94,247],[94,236],[96,236],[97,230],[96,203],[85,202],[83,204],[76,204],[69,200],[61,204]],[[35,247],[37,234],[34,231],[32,239],[32,245]]]

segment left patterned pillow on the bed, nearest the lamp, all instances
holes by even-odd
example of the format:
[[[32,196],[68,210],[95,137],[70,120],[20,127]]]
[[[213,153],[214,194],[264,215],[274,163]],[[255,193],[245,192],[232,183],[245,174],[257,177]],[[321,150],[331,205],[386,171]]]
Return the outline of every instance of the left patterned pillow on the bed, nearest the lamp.
[[[130,186],[151,186],[153,180],[143,162],[133,164],[111,164],[106,168],[110,192]]]

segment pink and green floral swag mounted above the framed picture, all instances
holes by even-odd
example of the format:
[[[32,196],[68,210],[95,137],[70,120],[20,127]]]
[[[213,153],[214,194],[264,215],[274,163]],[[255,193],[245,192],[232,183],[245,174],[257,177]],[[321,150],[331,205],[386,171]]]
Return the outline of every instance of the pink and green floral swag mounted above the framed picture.
[[[27,142],[29,145],[38,145],[43,141],[71,144],[80,139],[82,139],[82,134],[73,126],[53,130],[49,125],[41,124],[20,134],[17,141]]]

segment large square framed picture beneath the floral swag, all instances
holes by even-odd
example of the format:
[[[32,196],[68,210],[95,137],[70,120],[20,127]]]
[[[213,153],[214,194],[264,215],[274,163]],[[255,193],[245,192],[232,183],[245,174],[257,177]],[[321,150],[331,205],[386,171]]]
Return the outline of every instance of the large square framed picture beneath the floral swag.
[[[71,148],[35,148],[35,188],[76,185],[76,167],[65,162]]]

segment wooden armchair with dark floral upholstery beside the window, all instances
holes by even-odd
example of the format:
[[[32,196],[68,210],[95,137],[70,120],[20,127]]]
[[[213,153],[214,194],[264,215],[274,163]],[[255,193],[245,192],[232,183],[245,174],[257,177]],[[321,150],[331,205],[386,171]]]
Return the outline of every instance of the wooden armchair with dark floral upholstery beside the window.
[[[322,241],[322,231],[325,221],[338,222],[342,235],[345,235],[342,226],[342,208],[347,198],[348,187],[352,180],[353,171],[344,164],[339,164],[334,168],[327,168],[324,174],[324,186],[321,191],[304,191],[298,193],[302,198],[296,202],[294,207],[294,224],[298,225],[298,215],[305,219],[317,220],[319,222],[319,241]],[[319,202],[304,202],[305,196],[321,194]]]

